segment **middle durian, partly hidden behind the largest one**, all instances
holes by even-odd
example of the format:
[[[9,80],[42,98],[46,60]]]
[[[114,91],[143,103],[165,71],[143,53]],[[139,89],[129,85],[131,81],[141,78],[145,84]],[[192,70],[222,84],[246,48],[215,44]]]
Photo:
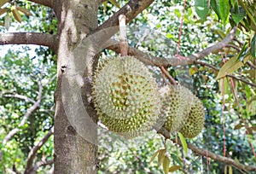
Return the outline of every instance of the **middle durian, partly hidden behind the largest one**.
[[[192,92],[181,85],[166,85],[160,89],[161,110],[160,119],[157,122],[159,128],[175,134],[188,119],[193,102]]]

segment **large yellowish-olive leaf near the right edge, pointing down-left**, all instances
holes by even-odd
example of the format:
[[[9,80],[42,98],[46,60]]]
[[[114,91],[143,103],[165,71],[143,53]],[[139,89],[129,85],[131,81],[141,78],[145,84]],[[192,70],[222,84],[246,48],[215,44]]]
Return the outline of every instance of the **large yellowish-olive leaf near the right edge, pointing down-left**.
[[[235,72],[238,68],[242,67],[250,58],[251,55],[247,55],[243,62],[240,61],[238,55],[233,56],[230,61],[226,62],[223,67],[218,71],[218,76],[216,79],[224,78],[227,74]]]

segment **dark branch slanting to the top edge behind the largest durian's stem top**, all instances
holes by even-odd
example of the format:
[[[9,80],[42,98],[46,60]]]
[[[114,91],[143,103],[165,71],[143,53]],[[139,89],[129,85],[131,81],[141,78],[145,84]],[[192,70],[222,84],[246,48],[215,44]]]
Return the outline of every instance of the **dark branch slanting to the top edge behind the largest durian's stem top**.
[[[118,12],[113,14],[108,20],[106,20],[101,26],[98,26],[96,31],[100,31],[112,26],[118,26],[120,14],[125,14],[127,17],[126,22],[130,22],[137,16],[137,14],[140,14],[153,2],[154,0],[131,0],[129,3],[125,4],[124,7],[119,9]]]

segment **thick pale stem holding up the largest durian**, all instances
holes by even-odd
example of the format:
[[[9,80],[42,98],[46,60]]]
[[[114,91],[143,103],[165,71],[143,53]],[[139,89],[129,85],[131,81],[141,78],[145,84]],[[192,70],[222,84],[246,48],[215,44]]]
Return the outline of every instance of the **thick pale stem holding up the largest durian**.
[[[119,15],[119,31],[120,31],[120,53],[121,56],[128,55],[128,42],[127,42],[127,35],[126,35],[126,16],[125,14]]]

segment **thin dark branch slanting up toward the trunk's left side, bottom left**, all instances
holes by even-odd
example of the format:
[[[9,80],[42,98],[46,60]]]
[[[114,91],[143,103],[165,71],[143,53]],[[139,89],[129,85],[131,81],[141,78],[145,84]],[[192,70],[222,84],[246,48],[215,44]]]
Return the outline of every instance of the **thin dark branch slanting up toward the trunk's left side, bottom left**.
[[[53,133],[54,133],[54,128],[52,127],[49,130],[49,132],[44,136],[44,138],[40,142],[38,142],[38,144],[36,146],[34,146],[31,149],[31,151],[29,152],[28,157],[27,157],[25,174],[26,173],[28,174],[28,173],[32,172],[34,168],[36,168],[36,169],[38,168],[38,167],[33,167],[32,166],[33,160],[36,157],[36,154],[37,154],[38,150],[44,145],[45,142],[47,142],[47,140],[49,139],[49,136],[53,135]]]

